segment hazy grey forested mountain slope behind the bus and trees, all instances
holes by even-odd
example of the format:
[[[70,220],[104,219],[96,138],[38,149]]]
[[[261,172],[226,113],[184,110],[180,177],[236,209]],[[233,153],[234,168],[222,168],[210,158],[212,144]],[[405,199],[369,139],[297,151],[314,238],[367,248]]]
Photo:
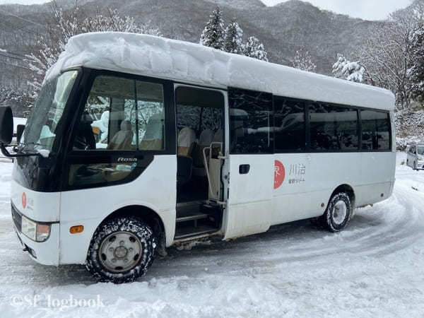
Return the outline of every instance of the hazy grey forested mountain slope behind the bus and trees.
[[[150,21],[166,37],[191,42],[199,41],[208,16],[219,4],[225,23],[233,17],[237,18],[246,37],[255,35],[264,42],[270,61],[290,65],[296,50],[305,47],[312,54],[319,73],[331,73],[336,54],[342,52],[350,55],[379,23],[322,11],[298,0],[273,7],[267,7],[259,0],[86,0],[78,3],[84,14],[93,15],[98,11],[105,12],[110,7],[117,8],[122,15],[134,16],[143,22]],[[66,1],[66,6],[71,6],[71,1]],[[49,4],[0,6],[0,19],[3,20],[0,23],[0,48],[25,52],[28,50],[25,41],[34,42],[35,37],[31,36],[34,30],[43,32],[42,27],[25,24],[25,20],[6,16],[2,11],[45,23],[48,9]],[[23,30],[24,37],[27,37],[23,42],[16,41],[15,47],[8,37],[18,32],[14,25],[18,25],[18,29]]]

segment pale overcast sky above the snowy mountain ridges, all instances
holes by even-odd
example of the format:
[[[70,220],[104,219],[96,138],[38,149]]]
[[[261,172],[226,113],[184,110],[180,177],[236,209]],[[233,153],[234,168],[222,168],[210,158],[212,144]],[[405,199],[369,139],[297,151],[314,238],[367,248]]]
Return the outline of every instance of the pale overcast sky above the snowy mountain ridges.
[[[0,4],[42,4],[49,0],[0,0]],[[231,0],[228,0],[231,1]],[[261,0],[273,6],[288,0]],[[355,18],[382,20],[398,8],[405,8],[412,0],[305,0],[314,6]]]

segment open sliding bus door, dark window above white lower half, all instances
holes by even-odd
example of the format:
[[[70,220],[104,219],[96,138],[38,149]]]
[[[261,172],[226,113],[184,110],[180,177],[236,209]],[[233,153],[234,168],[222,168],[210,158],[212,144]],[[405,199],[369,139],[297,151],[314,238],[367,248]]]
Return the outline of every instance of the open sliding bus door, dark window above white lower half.
[[[273,194],[272,95],[228,90],[224,240],[268,230]]]

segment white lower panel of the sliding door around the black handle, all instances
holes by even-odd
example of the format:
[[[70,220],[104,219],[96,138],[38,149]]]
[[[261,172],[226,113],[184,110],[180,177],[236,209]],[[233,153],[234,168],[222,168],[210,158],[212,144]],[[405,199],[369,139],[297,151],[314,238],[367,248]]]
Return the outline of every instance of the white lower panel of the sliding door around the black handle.
[[[224,240],[264,232],[271,225],[273,155],[230,155]],[[248,172],[240,171],[249,165]]]

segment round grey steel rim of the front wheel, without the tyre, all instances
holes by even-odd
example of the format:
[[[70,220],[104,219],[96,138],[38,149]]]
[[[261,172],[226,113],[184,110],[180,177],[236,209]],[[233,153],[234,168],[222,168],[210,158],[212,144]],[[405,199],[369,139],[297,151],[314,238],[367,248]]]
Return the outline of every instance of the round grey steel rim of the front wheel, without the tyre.
[[[100,245],[99,259],[108,271],[129,271],[139,263],[143,247],[131,232],[113,232]]]

